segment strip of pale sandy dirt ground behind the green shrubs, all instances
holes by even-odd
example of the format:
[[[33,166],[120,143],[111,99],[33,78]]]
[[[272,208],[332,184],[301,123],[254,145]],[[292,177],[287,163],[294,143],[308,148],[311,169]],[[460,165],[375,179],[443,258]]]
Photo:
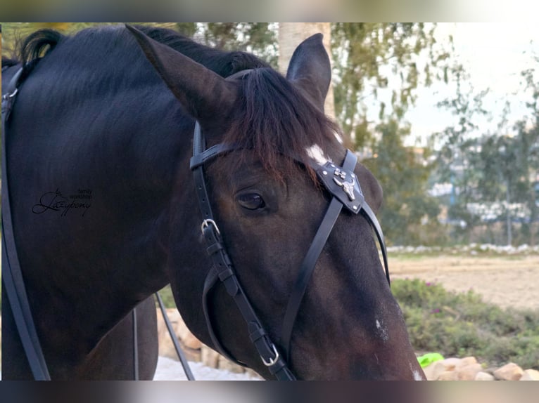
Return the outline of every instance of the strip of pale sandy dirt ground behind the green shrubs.
[[[392,279],[418,278],[452,291],[473,289],[502,307],[539,309],[539,256],[389,256]]]

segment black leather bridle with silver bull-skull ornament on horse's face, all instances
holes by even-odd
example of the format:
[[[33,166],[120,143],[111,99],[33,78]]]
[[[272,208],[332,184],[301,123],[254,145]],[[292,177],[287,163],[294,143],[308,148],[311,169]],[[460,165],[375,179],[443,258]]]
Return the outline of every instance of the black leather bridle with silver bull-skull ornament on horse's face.
[[[212,319],[210,317],[210,312],[208,311],[208,293],[220,280],[224,284],[229,296],[234,298],[243,319],[245,319],[248,326],[249,336],[251,341],[254,343],[262,362],[264,362],[264,364],[270,370],[270,373],[273,374],[278,380],[293,381],[296,379],[296,377],[286,364],[290,357],[290,341],[293,326],[296,322],[300,304],[309,284],[310,277],[312,272],[315,270],[318,257],[322,252],[322,249],[324,248],[329,234],[331,233],[331,230],[333,230],[338,215],[341,213],[343,207],[351,213],[357,214],[361,212],[362,215],[367,218],[369,224],[373,227],[381,246],[383,264],[386,270],[386,278],[388,282],[390,282],[386,245],[383,240],[381,227],[376,219],[376,216],[374,215],[374,212],[365,201],[359,180],[357,180],[355,173],[353,172],[357,162],[357,157],[352,151],[347,150],[342,166],[337,166],[331,161],[326,162],[324,165],[319,165],[315,163],[315,161],[312,161],[311,166],[313,169],[315,169],[317,177],[329,194],[331,194],[331,202],[329,203],[329,207],[326,210],[324,218],[322,219],[322,223],[320,223],[317,233],[312,240],[310,248],[308,249],[305,258],[300,265],[300,271],[296,279],[296,283],[293,286],[290,299],[288,300],[280,337],[280,344],[285,354],[285,357],[283,357],[281,354],[279,354],[279,350],[263,328],[260,319],[258,319],[258,316],[253,309],[253,306],[249,302],[246,294],[243,292],[241,284],[236,276],[232,260],[227,253],[226,247],[224,246],[222,234],[217,223],[215,222],[210,205],[210,199],[208,197],[208,189],[205,183],[204,164],[222,154],[237,150],[239,147],[231,144],[220,143],[206,149],[205,139],[198,121],[195,124],[193,141],[193,157],[191,158],[190,167],[194,174],[198,204],[201,208],[203,216],[201,229],[206,243],[208,244],[208,254],[213,260],[213,267],[206,276],[203,289],[203,311],[206,324],[208,326],[208,332],[210,333],[210,338],[213,342],[213,347],[228,359],[236,362],[237,364],[245,365],[227,352],[222,343],[220,343],[219,338],[213,329]]]

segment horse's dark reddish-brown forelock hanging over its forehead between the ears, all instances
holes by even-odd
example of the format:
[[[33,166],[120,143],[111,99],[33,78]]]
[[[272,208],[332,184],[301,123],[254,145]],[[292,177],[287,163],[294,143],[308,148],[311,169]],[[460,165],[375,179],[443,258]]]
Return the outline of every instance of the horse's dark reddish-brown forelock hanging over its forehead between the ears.
[[[235,163],[228,161],[223,171],[237,169],[247,155],[255,154],[267,173],[277,179],[296,169],[297,161],[302,161],[315,178],[308,164],[310,150],[313,146],[336,147],[338,126],[271,68],[252,70],[240,80],[241,107],[223,139],[239,147],[234,152]]]

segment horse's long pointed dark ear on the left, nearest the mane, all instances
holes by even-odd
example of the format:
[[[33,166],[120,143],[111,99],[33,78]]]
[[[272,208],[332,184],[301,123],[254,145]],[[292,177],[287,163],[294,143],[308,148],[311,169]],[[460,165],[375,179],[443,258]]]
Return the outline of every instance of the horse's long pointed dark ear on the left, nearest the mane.
[[[214,120],[227,114],[237,98],[238,88],[198,62],[125,25],[137,39],[146,58],[165,81],[170,91],[192,117]]]

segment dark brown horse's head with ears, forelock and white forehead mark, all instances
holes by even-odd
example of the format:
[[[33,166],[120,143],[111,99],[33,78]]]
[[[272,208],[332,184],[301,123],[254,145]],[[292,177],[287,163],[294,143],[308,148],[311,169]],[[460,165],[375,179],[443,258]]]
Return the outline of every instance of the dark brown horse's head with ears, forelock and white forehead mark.
[[[364,197],[375,212],[382,201],[376,178],[355,159],[348,161],[352,153],[324,115],[331,67],[322,35],[298,46],[286,77],[265,67],[224,78],[128,28],[182,108],[198,121],[208,147],[229,145],[203,164],[215,213],[211,225],[218,225],[243,292],[290,371],[300,379],[424,378],[372,228],[352,209],[335,216],[297,315],[285,324],[300,267],[319,227],[326,225],[333,194],[318,178],[324,165],[335,164],[352,176],[331,173],[343,200]],[[187,163],[177,175],[178,183],[192,180],[186,179],[191,178]],[[225,287],[205,287],[212,260],[200,232],[203,216],[193,213],[198,207],[191,186],[176,191],[170,224],[167,270],[177,306],[201,341],[272,378]]]

